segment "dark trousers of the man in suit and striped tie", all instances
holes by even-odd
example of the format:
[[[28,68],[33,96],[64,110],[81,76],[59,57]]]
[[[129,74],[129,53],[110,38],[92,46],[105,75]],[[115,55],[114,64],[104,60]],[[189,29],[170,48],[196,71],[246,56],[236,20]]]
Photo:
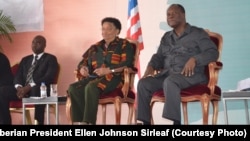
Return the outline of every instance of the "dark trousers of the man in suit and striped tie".
[[[32,91],[37,91],[40,94],[40,90],[32,88]],[[19,100],[16,95],[16,89],[14,86],[2,86],[0,87],[0,124],[12,124],[9,103],[10,101]],[[33,93],[33,92],[31,92]],[[39,124],[44,124],[44,112],[45,105],[35,105],[34,118]]]

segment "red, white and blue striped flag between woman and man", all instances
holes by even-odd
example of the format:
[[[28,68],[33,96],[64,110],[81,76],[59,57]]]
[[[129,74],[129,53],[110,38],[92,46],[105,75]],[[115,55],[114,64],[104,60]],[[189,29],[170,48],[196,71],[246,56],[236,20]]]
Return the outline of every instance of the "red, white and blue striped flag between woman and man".
[[[128,21],[127,21],[127,37],[138,41],[140,51],[144,48],[142,42],[142,32],[140,24],[140,15],[137,0],[129,0],[128,2]],[[140,60],[137,64],[138,77],[141,78]]]

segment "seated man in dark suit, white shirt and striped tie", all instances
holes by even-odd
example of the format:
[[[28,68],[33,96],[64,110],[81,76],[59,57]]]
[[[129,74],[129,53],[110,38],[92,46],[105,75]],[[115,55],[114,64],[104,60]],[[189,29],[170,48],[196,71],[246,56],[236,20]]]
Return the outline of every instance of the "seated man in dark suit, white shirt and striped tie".
[[[59,65],[56,56],[45,53],[45,37],[38,35],[32,41],[33,54],[22,58],[17,74],[14,76],[14,86],[0,88],[0,124],[11,124],[9,102],[23,97],[40,97],[40,84],[45,82],[47,95],[50,94],[49,86],[53,83],[58,73]],[[35,59],[35,56],[36,59]],[[36,62],[31,77],[29,69]],[[28,75],[28,76],[27,76]],[[35,105],[35,121],[44,124],[45,105]]]

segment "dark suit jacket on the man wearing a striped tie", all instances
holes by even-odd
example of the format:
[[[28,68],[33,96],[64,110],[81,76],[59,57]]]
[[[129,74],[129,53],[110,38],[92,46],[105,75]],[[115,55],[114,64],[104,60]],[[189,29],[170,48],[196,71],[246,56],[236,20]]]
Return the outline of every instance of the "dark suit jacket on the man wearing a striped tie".
[[[32,64],[33,55],[28,55],[23,57],[19,67],[17,74],[14,78],[14,84],[25,85],[26,77],[28,70]],[[36,83],[36,86],[32,87],[30,96],[40,96],[40,85],[42,82],[45,82],[47,86],[47,93],[50,94],[49,86],[55,80],[57,76],[59,65],[57,62],[57,58],[49,53],[44,53],[41,58],[38,60],[35,70],[33,72],[33,80]]]

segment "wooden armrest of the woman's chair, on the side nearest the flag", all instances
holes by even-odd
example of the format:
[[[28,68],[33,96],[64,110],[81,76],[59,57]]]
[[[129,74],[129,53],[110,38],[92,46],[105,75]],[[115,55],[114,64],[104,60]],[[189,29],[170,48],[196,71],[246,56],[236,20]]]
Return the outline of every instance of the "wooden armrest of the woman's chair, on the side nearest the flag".
[[[123,96],[126,98],[130,89],[134,88],[134,79],[137,69],[135,68],[124,68],[124,84],[122,87]]]

